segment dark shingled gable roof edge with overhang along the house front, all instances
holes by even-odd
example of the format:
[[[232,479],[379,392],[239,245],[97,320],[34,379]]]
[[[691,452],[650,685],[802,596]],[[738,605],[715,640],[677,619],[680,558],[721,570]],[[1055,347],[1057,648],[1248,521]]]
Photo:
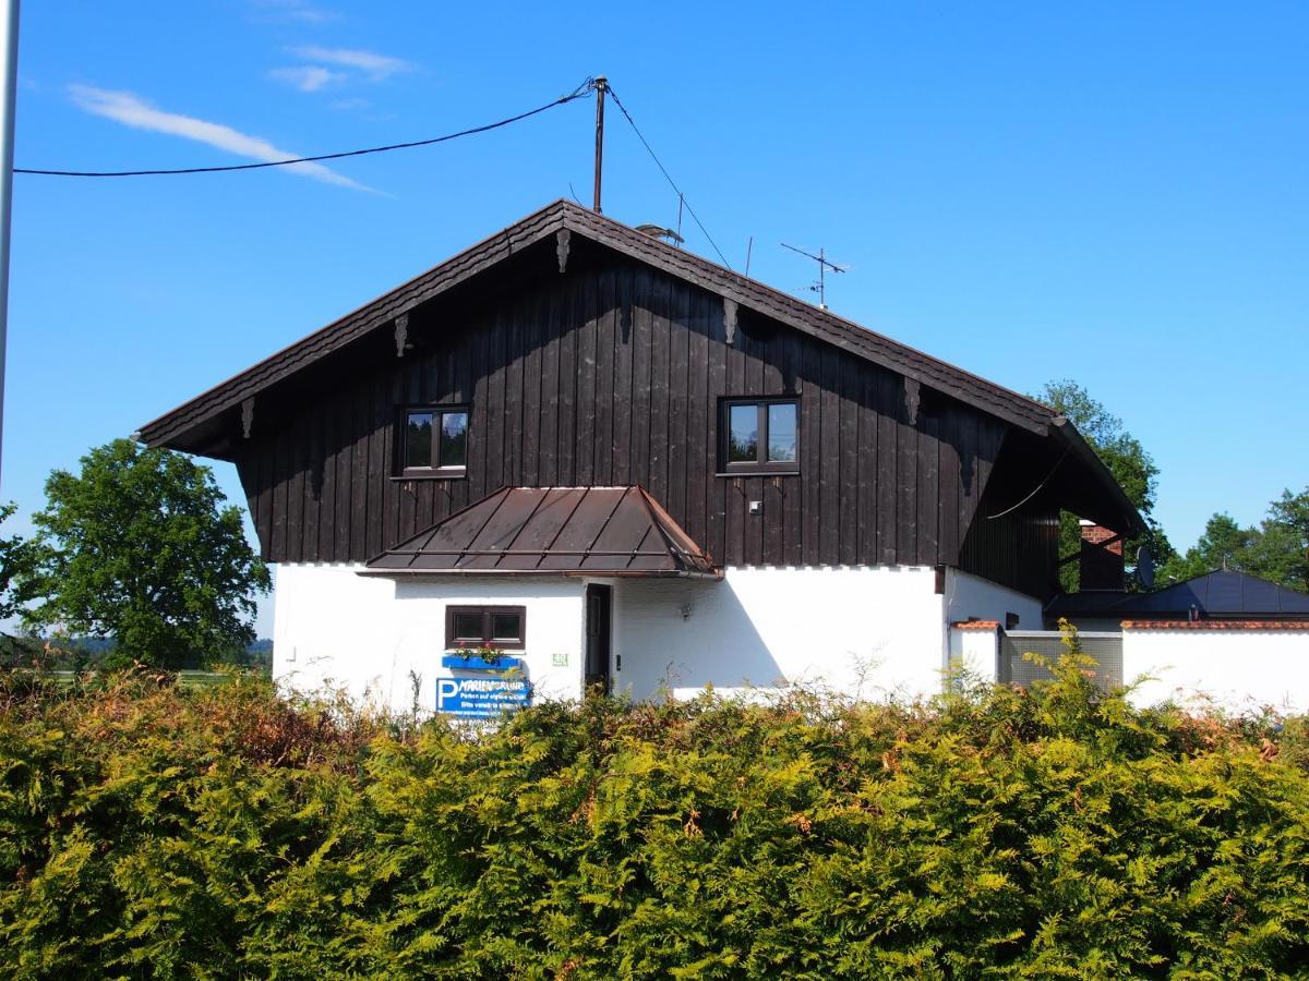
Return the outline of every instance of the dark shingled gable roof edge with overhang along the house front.
[[[559,200],[147,422],[136,437],[152,447],[232,459],[234,439],[242,430],[243,409],[258,416],[255,403],[274,390],[365,337],[376,340],[374,335],[384,335],[385,339],[397,318],[528,250],[565,254],[573,235],[716,293],[738,307],[818,337],[1018,429],[1039,436],[1049,433],[1052,413],[1041,403],[603,215]],[[541,259],[550,262],[554,256],[542,255]],[[564,264],[565,259],[560,259],[560,266]]]

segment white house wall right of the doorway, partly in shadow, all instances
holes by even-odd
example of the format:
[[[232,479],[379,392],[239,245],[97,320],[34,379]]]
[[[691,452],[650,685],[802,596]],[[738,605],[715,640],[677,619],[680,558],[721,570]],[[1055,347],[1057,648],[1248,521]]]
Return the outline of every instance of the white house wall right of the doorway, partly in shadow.
[[[729,568],[719,582],[632,578],[614,590],[614,691],[635,698],[797,683],[931,695],[945,650],[928,566]]]

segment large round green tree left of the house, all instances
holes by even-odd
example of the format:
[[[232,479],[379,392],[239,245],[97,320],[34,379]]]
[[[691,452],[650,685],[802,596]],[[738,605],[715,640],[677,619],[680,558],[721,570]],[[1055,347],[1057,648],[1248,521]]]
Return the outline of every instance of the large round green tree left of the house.
[[[54,471],[46,498],[26,581],[45,599],[30,624],[113,636],[126,654],[173,666],[226,659],[254,640],[253,594],[267,591],[268,569],[208,467],[115,439],[79,473]]]

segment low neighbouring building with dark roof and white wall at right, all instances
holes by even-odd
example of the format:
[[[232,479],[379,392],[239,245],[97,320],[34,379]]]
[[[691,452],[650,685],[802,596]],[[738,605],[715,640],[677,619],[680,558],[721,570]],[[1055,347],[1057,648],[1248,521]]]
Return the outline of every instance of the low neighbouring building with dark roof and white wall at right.
[[[1107,649],[1135,698],[1216,704],[1233,710],[1309,710],[1309,595],[1220,569],[1152,593],[1122,589],[1058,595],[1049,624],[1067,619]],[[1111,663],[1110,658],[1105,663]]]

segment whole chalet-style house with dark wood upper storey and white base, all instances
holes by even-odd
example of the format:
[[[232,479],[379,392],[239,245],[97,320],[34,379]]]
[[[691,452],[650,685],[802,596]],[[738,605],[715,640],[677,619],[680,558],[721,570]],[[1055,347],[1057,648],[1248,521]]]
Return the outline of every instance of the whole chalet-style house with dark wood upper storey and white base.
[[[279,678],[465,714],[995,676],[1062,510],[1144,530],[1049,407],[568,201],[139,438],[236,463]]]

